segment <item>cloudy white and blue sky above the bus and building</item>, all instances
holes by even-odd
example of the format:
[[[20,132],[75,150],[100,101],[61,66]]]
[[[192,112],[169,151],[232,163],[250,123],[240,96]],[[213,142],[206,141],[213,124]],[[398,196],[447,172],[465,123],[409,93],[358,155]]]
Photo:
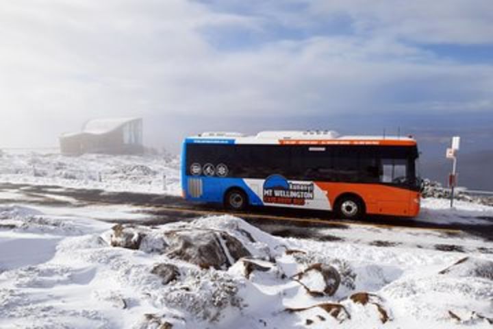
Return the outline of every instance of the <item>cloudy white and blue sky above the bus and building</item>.
[[[491,0],[1,1],[0,147],[105,117],[171,151],[210,130],[491,136],[492,54]]]

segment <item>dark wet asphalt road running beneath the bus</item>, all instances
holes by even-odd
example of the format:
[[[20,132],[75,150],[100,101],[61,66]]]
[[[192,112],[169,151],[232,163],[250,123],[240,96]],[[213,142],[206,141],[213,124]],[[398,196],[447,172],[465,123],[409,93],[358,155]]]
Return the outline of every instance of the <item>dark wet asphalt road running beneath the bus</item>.
[[[97,189],[62,188],[50,185],[29,185],[0,183],[0,192],[7,197],[0,198],[0,204],[18,203],[18,198],[9,198],[12,193],[21,194],[23,204],[43,206],[79,207],[91,204],[131,205],[149,215],[139,221],[143,225],[160,225],[173,221],[190,221],[204,215],[231,213],[220,206],[192,204],[181,197],[131,192],[108,192]],[[74,202],[75,200],[75,202]],[[281,236],[309,237],[330,240],[331,236],[318,236],[316,228],[349,228],[349,226],[375,226],[383,228],[410,228],[416,230],[438,230],[444,234],[467,234],[487,241],[493,241],[493,217],[481,217],[490,221],[486,225],[465,223],[430,223],[417,219],[367,216],[360,221],[347,221],[334,217],[330,212],[285,208],[252,207],[247,212],[233,212],[254,226],[271,234]],[[122,223],[125,219],[115,222]],[[130,221],[129,221],[130,222]],[[131,223],[136,223],[131,220]]]

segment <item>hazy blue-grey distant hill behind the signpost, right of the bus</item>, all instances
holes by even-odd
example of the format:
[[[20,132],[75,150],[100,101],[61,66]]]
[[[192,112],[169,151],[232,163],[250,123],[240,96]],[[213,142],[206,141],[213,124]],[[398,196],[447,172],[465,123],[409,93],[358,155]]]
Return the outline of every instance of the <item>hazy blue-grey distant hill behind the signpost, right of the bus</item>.
[[[445,186],[451,170],[452,161],[446,158],[421,162],[422,177],[437,180]],[[457,172],[459,186],[493,191],[493,149],[459,154]]]

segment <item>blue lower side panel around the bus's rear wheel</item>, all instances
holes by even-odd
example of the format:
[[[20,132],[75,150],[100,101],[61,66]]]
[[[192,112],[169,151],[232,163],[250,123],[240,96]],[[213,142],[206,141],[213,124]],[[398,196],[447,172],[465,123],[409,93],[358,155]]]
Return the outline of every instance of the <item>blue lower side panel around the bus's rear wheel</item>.
[[[188,178],[188,177],[186,177]],[[241,178],[214,178],[214,177],[201,177],[203,182],[203,193],[201,197],[190,197],[190,193],[187,191],[186,198],[200,202],[214,202],[223,203],[225,192],[231,187],[241,188],[249,198],[249,204],[253,206],[262,206],[263,202],[253,193],[251,188],[245,184]],[[184,184],[186,186],[186,184]]]

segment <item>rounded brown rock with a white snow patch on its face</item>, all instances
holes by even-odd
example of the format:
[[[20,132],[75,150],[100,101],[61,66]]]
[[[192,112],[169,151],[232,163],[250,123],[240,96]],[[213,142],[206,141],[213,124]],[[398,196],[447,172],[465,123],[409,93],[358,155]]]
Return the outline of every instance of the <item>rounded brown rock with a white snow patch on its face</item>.
[[[339,288],[341,278],[339,272],[331,265],[316,263],[305,271],[293,276],[313,296],[331,296]]]

